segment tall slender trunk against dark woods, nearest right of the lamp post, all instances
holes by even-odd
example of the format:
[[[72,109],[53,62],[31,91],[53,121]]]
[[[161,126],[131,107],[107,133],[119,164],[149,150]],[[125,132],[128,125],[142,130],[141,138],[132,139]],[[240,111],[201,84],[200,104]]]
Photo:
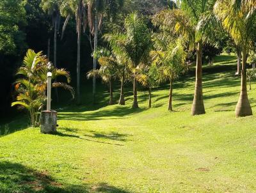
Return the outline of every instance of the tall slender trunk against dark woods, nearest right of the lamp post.
[[[81,15],[78,16],[77,24],[77,98],[76,102],[79,105],[80,101],[80,50],[81,50]]]

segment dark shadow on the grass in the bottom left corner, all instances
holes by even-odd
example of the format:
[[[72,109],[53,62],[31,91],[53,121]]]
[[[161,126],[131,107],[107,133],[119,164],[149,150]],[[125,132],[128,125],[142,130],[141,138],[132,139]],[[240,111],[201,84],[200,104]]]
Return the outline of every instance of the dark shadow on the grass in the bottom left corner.
[[[31,193],[86,193],[86,192],[106,192],[106,193],[129,193],[127,190],[108,185],[108,183],[98,183],[96,185],[72,185],[60,183],[54,180],[47,171],[36,171],[22,164],[12,162],[0,162],[0,192],[31,192]]]

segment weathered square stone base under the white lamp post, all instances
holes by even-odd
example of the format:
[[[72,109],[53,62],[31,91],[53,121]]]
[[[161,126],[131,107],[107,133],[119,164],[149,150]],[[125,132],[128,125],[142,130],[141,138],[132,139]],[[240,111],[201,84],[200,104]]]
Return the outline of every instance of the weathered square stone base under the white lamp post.
[[[57,112],[42,111],[40,116],[40,128],[42,134],[54,134],[57,130]]]

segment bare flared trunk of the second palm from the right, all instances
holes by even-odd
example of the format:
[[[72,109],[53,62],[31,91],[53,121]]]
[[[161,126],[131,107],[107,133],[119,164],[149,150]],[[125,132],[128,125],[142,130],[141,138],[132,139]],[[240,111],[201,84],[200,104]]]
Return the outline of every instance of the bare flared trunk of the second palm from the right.
[[[198,42],[196,49],[196,83],[191,114],[193,116],[205,114],[202,88],[202,42]]]

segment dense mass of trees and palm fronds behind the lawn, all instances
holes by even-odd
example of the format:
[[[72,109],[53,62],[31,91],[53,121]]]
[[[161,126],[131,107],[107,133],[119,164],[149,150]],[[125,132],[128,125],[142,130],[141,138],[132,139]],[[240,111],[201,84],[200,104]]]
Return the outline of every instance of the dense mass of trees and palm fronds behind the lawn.
[[[245,86],[247,57],[249,63],[255,63],[253,0],[3,0],[0,19],[3,111],[14,100],[12,82],[28,47],[42,50],[55,68],[66,68],[76,77],[77,104],[83,103],[80,88],[90,70],[93,102],[95,77],[101,77],[110,87],[109,104],[114,103],[113,85],[117,80],[121,83],[121,105],[125,104],[124,83],[132,82],[132,106],[136,108],[138,84],[148,89],[150,107],[152,88],[166,81],[172,88],[175,77],[195,65],[193,115],[205,113],[202,65],[211,64],[223,51],[236,52],[237,74],[242,74]],[[54,97],[58,101],[57,90]],[[243,100],[249,108],[248,100]],[[239,108],[244,109],[243,103]],[[237,110],[240,115],[247,114]]]

